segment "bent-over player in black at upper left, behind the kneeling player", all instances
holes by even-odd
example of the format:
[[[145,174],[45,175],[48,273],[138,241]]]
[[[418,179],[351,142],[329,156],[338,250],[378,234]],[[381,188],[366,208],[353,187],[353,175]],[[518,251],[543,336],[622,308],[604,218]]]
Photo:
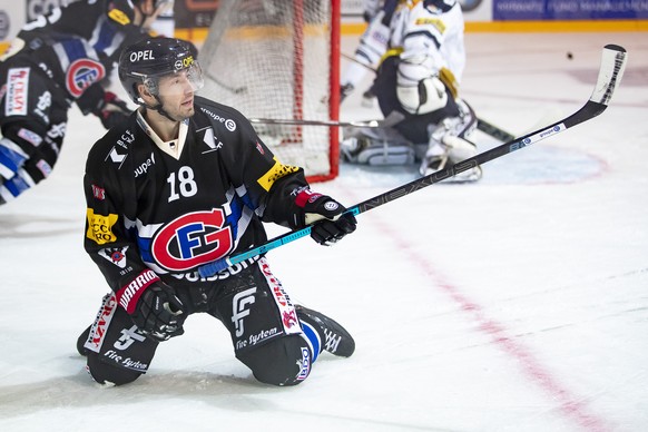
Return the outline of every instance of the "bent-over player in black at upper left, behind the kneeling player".
[[[72,104],[106,128],[130,110],[101,81],[169,0],[79,0],[27,23],[0,61],[0,204],[51,173]]]

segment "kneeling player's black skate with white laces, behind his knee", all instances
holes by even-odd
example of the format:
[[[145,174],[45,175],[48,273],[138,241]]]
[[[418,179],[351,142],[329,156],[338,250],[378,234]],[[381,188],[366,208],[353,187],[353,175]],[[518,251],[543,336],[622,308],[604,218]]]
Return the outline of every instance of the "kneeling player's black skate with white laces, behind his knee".
[[[296,305],[297,317],[311,326],[315,327],[322,338],[323,351],[342,357],[350,357],[355,351],[355,342],[344,327],[331,320],[328,316]]]

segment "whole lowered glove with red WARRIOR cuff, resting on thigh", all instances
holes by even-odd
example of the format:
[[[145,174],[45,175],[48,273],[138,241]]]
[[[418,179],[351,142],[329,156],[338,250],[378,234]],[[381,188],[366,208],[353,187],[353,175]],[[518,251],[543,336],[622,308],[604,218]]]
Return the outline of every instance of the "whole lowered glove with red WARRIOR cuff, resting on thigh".
[[[146,281],[149,282],[146,285]],[[143,282],[144,281],[144,282]],[[179,336],[183,330],[183,302],[174,288],[146,271],[117,293],[118,303],[147,337],[163,342]]]

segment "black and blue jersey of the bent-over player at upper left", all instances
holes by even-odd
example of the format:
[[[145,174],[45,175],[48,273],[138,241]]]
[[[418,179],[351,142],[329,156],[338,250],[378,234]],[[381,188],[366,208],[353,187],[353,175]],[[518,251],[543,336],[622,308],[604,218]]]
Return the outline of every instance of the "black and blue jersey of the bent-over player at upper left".
[[[79,0],[28,22],[16,53],[46,71],[71,100],[107,77],[121,50],[147,36],[127,0]]]

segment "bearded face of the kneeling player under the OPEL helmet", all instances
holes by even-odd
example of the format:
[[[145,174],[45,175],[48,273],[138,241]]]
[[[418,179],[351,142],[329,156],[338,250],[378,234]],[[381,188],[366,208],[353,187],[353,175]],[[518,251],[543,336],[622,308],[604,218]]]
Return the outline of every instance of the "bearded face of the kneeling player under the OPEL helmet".
[[[196,87],[187,71],[180,71],[159,79],[159,98],[165,111],[177,121],[194,115],[194,92]]]

